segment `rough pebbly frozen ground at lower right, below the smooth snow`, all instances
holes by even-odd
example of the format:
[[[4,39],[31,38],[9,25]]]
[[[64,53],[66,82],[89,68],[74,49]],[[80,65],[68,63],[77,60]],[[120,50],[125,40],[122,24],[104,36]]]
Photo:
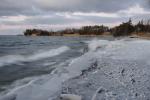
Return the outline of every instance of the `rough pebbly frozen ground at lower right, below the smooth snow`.
[[[77,94],[83,100],[149,100],[149,65],[143,62],[103,59],[95,69],[63,84],[62,93]]]

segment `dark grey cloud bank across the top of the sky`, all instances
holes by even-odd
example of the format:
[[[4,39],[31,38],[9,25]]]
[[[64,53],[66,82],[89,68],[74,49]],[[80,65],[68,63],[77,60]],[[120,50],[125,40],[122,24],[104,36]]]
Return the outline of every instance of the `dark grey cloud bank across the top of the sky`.
[[[116,12],[143,0],[1,0],[0,15],[36,15],[54,12]]]

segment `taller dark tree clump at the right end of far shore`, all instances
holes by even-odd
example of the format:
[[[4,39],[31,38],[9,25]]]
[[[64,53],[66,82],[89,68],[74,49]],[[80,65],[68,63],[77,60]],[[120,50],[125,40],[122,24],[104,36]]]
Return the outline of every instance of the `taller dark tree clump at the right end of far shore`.
[[[113,36],[128,36],[132,34],[148,34],[150,33],[150,20],[144,22],[139,21],[137,24],[133,25],[132,20],[129,19],[128,22],[122,23],[110,29]]]

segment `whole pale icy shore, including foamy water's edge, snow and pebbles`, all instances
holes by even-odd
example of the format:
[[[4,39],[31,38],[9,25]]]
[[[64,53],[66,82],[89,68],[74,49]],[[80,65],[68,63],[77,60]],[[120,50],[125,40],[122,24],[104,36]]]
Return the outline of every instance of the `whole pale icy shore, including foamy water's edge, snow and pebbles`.
[[[59,100],[61,94],[81,95],[83,100],[92,100],[93,96],[95,100],[150,98],[150,41],[88,43],[88,52],[71,59],[68,66],[16,86],[1,95],[0,100]]]

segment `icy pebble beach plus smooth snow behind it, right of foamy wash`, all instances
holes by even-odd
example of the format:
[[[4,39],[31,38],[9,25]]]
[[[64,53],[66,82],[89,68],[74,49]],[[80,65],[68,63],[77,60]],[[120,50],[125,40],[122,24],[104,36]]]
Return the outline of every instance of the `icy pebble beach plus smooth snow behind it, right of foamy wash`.
[[[63,84],[62,93],[76,94],[82,96],[83,100],[93,100],[93,96],[94,100],[148,100],[150,65],[147,62],[150,57],[148,51],[150,42],[145,40],[126,42],[123,47],[115,43],[113,46],[119,46],[119,49],[115,47],[114,54],[107,52],[96,57],[96,63],[93,63],[91,68]]]

